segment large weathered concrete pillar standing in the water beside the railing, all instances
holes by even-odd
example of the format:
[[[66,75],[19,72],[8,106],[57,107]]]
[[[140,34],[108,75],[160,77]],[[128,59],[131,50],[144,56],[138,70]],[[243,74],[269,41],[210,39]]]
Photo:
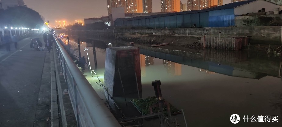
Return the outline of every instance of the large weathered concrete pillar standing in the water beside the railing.
[[[139,48],[111,47],[106,52],[104,84],[110,96],[123,96],[123,85],[125,95],[131,94],[131,98],[138,98],[138,90],[142,94]]]

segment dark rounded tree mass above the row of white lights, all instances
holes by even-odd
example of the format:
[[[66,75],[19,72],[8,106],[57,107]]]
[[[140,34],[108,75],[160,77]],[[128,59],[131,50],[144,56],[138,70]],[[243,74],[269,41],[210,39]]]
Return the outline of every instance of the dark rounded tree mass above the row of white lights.
[[[40,28],[43,25],[40,14],[33,9],[17,6],[0,10],[0,24],[14,27]]]

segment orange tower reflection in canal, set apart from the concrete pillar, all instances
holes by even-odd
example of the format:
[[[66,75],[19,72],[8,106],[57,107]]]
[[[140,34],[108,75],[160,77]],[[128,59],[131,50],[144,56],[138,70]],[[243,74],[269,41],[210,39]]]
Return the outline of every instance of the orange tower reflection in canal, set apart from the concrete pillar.
[[[181,75],[181,64],[163,60],[163,65],[165,68],[167,68],[167,72],[169,74]]]

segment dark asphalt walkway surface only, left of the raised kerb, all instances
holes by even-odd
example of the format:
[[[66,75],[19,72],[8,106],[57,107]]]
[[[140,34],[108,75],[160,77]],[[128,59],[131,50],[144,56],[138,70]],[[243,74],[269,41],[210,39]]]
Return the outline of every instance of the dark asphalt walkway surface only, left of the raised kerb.
[[[50,55],[30,48],[31,38],[35,37],[43,42],[38,33],[18,42],[18,49],[12,45],[10,52],[5,47],[0,49],[0,127],[50,126]],[[44,64],[49,64],[44,69],[49,74],[42,78]],[[49,82],[44,90],[40,89],[42,79]],[[46,96],[39,97],[42,91]]]

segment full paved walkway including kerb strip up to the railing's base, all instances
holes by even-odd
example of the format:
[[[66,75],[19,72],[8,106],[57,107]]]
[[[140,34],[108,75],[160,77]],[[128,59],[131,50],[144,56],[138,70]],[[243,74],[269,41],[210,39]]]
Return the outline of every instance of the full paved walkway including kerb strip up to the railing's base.
[[[75,127],[69,95],[60,94],[63,104],[57,99],[58,81],[62,90],[67,87],[63,75],[55,78],[61,72],[60,64],[56,63],[58,70],[54,67],[56,49],[36,51],[29,46],[31,38],[44,43],[37,33],[19,41],[18,49],[14,45],[10,52],[0,49],[0,127]],[[65,117],[68,124],[62,124]]]

